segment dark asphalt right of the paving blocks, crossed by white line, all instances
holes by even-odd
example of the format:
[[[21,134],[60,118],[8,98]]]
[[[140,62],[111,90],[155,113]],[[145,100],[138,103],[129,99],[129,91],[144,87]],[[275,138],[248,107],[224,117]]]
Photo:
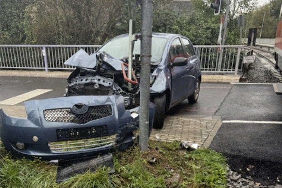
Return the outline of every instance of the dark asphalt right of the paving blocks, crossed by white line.
[[[276,95],[272,85],[234,85],[215,115],[223,120],[270,121],[223,123],[210,148],[222,152],[233,171],[262,185],[281,184],[282,124],[275,122],[282,121],[282,95]],[[248,170],[248,165],[254,168]]]

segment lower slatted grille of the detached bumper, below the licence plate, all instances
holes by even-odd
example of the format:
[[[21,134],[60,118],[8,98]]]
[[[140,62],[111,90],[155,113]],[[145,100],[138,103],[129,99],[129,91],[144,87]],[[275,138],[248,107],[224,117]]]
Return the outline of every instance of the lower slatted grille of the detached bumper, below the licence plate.
[[[97,147],[108,147],[116,143],[117,135],[89,138],[83,140],[49,142],[48,146],[53,153],[73,152]]]

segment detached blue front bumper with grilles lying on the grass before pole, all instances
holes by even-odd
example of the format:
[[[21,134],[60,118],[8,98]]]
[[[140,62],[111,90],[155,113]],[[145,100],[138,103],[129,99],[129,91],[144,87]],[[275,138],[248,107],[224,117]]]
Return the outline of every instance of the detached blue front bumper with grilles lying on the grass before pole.
[[[77,104],[88,110],[75,111]],[[126,110],[119,95],[31,100],[25,107],[27,119],[0,110],[1,140],[16,157],[71,159],[123,150],[133,144],[139,128],[139,107]],[[153,117],[150,103],[149,130]]]

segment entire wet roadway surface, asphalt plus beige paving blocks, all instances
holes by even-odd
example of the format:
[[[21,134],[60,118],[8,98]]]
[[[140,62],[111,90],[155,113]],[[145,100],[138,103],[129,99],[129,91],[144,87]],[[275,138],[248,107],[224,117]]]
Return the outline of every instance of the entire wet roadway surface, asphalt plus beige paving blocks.
[[[66,85],[65,78],[1,77],[1,101],[36,89],[52,91],[30,99],[60,97]],[[1,108],[26,116],[23,102]],[[275,176],[282,176],[281,121],[282,95],[276,95],[271,84],[202,83],[197,103],[184,100],[171,109],[164,128],[152,130],[150,139],[209,146],[227,156],[234,170],[271,184],[277,183]],[[249,163],[256,166],[252,171],[246,171]]]

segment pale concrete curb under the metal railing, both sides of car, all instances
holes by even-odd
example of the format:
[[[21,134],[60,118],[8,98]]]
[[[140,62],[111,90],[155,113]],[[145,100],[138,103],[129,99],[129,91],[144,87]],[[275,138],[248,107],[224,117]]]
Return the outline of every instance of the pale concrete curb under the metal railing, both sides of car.
[[[7,77],[45,77],[45,78],[68,78],[71,71],[22,71],[1,70],[1,76]],[[202,75],[202,83],[238,83],[239,75]]]

